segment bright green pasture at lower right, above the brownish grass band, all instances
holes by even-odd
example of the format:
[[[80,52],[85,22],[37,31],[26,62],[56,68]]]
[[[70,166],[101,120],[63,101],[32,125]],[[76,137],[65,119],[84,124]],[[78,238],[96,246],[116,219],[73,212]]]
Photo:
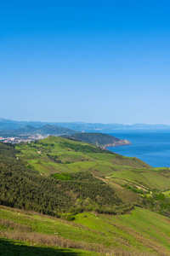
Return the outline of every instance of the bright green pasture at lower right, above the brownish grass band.
[[[168,250],[170,253],[169,219],[145,209],[135,208],[130,214],[111,217],[88,213],[87,219],[82,218],[80,213],[74,222],[111,236],[111,241],[115,236],[116,241],[139,248],[140,251],[144,247],[154,250],[157,247],[160,253],[161,249],[162,252]]]

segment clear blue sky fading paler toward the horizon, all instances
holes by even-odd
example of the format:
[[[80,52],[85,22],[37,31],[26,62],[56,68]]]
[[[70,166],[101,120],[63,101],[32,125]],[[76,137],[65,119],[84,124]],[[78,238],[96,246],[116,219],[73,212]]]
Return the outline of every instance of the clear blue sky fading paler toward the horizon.
[[[0,118],[170,125],[170,1],[0,1]]]

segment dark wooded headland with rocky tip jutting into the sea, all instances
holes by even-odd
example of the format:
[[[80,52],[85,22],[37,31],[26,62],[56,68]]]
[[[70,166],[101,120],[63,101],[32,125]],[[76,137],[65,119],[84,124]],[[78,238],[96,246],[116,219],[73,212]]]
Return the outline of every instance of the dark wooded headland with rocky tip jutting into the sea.
[[[70,136],[62,136],[71,140],[81,141],[82,143],[89,143],[96,147],[106,148],[131,144],[127,140],[121,140],[117,137],[99,132],[81,132]]]

